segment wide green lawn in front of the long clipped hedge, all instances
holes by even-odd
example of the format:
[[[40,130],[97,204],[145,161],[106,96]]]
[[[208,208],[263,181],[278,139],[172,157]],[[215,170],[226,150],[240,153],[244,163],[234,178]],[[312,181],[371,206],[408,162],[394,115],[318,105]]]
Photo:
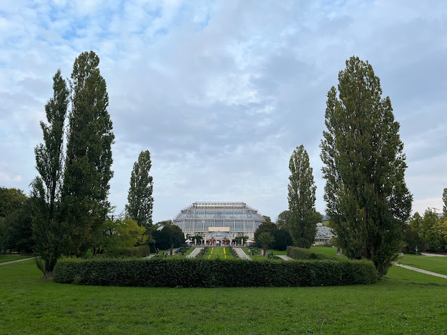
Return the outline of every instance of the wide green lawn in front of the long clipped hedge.
[[[0,266],[0,334],[445,334],[447,280],[392,267],[373,285],[148,288],[57,284]]]

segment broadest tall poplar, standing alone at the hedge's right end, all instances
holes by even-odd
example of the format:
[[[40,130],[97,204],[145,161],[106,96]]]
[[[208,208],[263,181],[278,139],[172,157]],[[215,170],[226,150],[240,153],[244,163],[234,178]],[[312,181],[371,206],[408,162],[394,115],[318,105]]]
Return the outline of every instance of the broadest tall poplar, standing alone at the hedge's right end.
[[[326,103],[321,160],[324,199],[339,247],[387,273],[410,216],[413,196],[404,180],[404,144],[389,97],[368,61],[351,57]]]

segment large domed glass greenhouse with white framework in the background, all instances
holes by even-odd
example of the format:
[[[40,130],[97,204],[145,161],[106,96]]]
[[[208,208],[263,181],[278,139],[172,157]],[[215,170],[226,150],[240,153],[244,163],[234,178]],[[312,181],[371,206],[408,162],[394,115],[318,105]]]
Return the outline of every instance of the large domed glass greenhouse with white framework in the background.
[[[173,223],[185,236],[201,236],[205,243],[231,244],[237,236],[253,238],[264,221],[263,216],[246,203],[196,202],[181,210]]]

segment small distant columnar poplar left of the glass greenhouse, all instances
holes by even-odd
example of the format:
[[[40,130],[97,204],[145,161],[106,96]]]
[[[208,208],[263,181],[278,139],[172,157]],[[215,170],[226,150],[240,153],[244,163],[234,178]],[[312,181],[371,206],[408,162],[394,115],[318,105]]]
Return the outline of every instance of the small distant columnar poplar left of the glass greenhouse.
[[[132,174],[130,174],[130,187],[128,193],[128,204],[126,212],[130,219],[137,221],[142,227],[152,225],[152,189],[154,183],[149,175],[150,152],[142,151],[138,156],[138,161],[134,163]]]

